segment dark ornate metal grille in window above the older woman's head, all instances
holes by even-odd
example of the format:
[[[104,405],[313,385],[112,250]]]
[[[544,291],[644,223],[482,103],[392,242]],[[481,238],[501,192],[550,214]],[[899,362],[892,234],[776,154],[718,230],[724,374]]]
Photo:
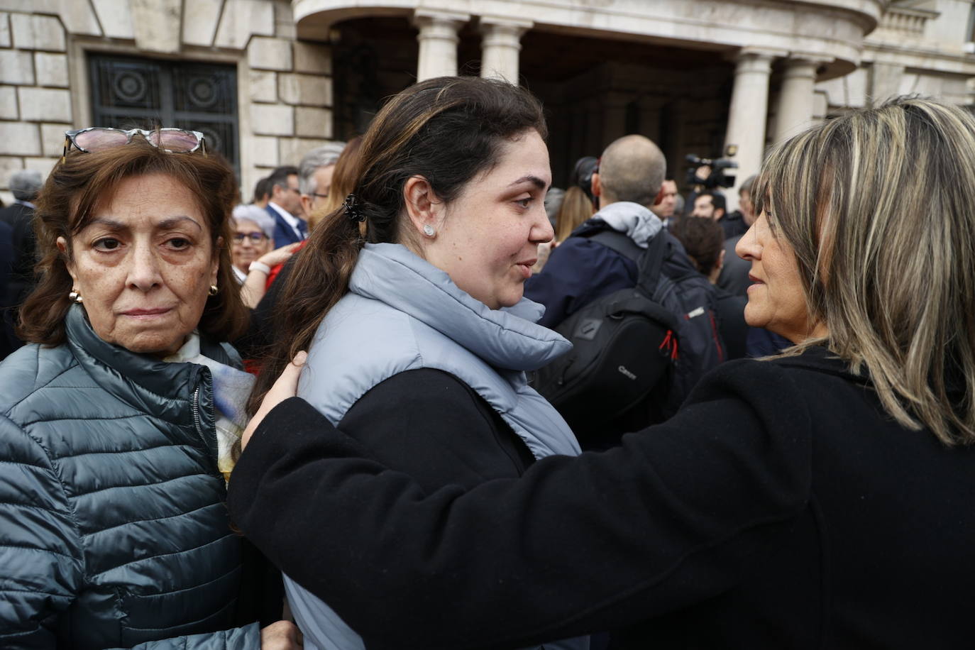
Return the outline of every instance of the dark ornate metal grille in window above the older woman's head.
[[[92,55],[89,69],[93,126],[193,129],[240,172],[234,66]]]

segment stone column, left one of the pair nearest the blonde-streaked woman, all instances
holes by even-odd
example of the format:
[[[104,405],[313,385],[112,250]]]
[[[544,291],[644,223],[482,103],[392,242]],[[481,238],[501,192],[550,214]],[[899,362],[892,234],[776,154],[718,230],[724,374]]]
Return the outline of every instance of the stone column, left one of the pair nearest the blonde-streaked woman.
[[[738,170],[733,189],[725,192],[728,210],[738,207],[738,185],[761,168],[765,149],[765,121],[768,115],[768,78],[772,59],[786,53],[745,48],[735,58],[734,87],[728,109],[725,146],[735,144]]]

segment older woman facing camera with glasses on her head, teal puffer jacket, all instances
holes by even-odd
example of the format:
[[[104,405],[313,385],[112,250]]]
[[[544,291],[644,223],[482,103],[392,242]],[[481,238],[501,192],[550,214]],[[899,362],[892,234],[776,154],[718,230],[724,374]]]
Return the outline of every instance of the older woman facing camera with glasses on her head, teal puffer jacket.
[[[224,504],[251,385],[223,343],[248,320],[235,184],[195,132],[67,134],[30,345],[0,364],[0,647],[296,647]]]

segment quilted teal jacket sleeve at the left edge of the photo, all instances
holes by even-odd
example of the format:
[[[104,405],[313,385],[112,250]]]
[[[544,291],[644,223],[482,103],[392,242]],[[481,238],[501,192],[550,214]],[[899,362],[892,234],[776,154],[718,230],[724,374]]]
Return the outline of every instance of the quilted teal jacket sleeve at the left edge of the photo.
[[[80,591],[80,537],[41,445],[0,416],[0,647],[50,648]]]

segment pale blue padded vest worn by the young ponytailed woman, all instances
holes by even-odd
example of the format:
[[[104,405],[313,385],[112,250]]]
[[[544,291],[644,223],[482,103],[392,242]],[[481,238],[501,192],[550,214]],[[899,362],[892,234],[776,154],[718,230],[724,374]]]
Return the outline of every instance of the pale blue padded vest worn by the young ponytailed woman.
[[[349,293],[319,326],[298,395],[337,423],[383,380],[411,369],[436,368],[484,398],[535,458],[576,455],[579,445],[565,421],[526,382],[525,370],[569,347],[559,334],[534,324],[540,312],[527,300],[508,311],[491,310],[405,247],[367,245]],[[364,647],[317,596],[288,576],[285,585],[306,647]],[[581,650],[588,648],[588,637],[545,647]]]

